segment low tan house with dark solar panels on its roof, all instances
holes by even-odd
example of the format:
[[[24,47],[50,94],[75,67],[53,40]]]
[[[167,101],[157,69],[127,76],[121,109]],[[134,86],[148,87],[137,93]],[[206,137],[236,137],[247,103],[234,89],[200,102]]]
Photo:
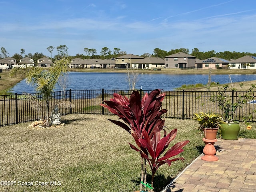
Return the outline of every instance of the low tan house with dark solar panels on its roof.
[[[211,57],[207,58],[201,61],[196,62],[196,68],[202,68],[202,69],[218,69],[218,68],[228,68],[228,64],[230,61],[217,58],[217,57]]]

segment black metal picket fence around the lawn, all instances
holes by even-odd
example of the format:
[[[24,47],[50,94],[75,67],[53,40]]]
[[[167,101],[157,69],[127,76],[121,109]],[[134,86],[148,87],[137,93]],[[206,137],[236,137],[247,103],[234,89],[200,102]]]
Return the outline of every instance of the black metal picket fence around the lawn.
[[[108,110],[100,106],[104,100],[113,98],[116,92],[126,97],[130,97],[129,90],[66,90],[52,92],[50,100],[50,109],[53,110],[57,105],[61,115],[79,113],[79,114],[110,114]],[[151,90],[139,90],[143,97]],[[218,94],[214,91],[165,91],[166,97],[162,102],[162,108],[168,110],[163,117],[189,119],[194,117],[194,113],[214,112],[221,115],[222,111],[216,102],[210,98]],[[230,91],[227,96],[232,98],[233,102],[240,95],[246,92]],[[256,104],[256,103],[255,103]],[[29,122],[46,117],[45,102],[42,94],[14,94],[0,95],[0,126],[18,124],[20,122]],[[256,106],[256,105],[255,105]],[[236,111],[234,119],[242,120],[247,117],[248,121],[255,122],[253,102],[245,104]]]

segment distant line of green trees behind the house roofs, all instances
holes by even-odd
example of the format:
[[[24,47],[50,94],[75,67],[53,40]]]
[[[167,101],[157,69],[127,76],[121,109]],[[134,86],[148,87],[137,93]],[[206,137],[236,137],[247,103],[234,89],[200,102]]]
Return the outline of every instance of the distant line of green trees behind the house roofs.
[[[57,51],[57,55],[55,55],[52,58],[52,52],[54,51],[54,49],[56,49]],[[54,46],[49,46],[48,48],[46,48],[46,50],[50,53],[50,58],[52,61],[59,59],[59,58],[63,58],[66,56],[70,56],[68,54],[68,46],[66,45],[60,45],[57,47]],[[178,52],[182,52],[182,53],[186,53],[186,54],[190,54],[192,56],[195,56],[196,58],[200,59],[200,60],[204,60],[206,58],[210,58],[210,57],[218,57],[218,58],[223,58],[226,60],[234,60],[234,59],[238,59],[240,57],[246,56],[246,55],[252,55],[252,56],[256,56],[256,53],[250,53],[250,52],[230,52],[230,51],[224,51],[224,52],[215,52],[214,50],[211,51],[207,51],[207,52],[202,52],[199,51],[198,48],[194,48],[192,49],[192,52],[190,53],[189,49],[187,48],[180,48],[180,49],[172,49],[170,51],[165,51],[165,50],[161,50],[160,48],[155,48],[153,50],[153,53],[144,53],[143,55],[141,55],[142,57],[146,58],[146,57],[160,57],[160,58],[164,58],[165,56],[168,55],[172,55]],[[25,50],[22,48],[20,49],[20,53],[15,53],[12,58],[16,59],[17,61],[19,61],[20,59],[23,58],[23,54],[24,57],[29,57],[32,58],[35,61],[35,64],[37,63],[37,60],[42,58],[42,57],[46,57],[44,54],[42,53],[28,53],[25,54]],[[116,58],[122,55],[126,55],[126,51],[121,51],[120,48],[114,48],[113,50],[107,48],[107,47],[103,47],[102,50],[100,51],[100,54],[97,54],[97,50],[94,48],[84,48],[84,54],[76,54],[75,56],[71,56],[71,58],[81,58],[81,59],[110,59],[110,58]],[[1,48],[1,54],[0,54],[0,58],[6,58],[9,56],[9,53],[6,51],[6,49],[4,47]]]

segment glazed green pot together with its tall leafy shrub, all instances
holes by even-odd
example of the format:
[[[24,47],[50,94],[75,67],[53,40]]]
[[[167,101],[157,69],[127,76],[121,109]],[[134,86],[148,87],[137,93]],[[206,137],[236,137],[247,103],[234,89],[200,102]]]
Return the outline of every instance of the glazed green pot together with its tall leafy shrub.
[[[242,86],[242,84],[240,84],[240,86]],[[233,96],[230,96],[228,93],[230,90],[228,90],[228,88],[229,86],[227,84],[218,87],[218,94],[212,96],[210,100],[216,102],[224,114],[226,124],[221,124],[220,126],[221,138],[226,140],[237,140],[240,126],[239,121],[234,121],[234,115],[238,108],[242,108],[244,104],[253,99],[253,89],[255,88],[255,85],[252,84],[245,94],[239,93],[236,100],[234,100]],[[235,88],[232,89],[232,95],[234,90]]]

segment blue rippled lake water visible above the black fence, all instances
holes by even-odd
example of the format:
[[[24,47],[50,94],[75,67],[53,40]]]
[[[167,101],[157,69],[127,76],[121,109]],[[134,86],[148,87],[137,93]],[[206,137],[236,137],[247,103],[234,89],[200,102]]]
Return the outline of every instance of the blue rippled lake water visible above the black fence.
[[[230,75],[232,82],[242,82],[256,80],[256,74],[232,74]],[[208,74],[139,74],[137,78],[136,89],[143,90],[174,90],[184,84],[207,84]],[[220,84],[230,83],[228,75],[212,74],[212,82]],[[67,88],[73,90],[128,90],[127,75],[125,73],[85,73],[70,72],[67,78]],[[55,91],[62,90],[56,86]],[[25,80],[16,84],[12,88],[14,93],[34,93],[32,86],[26,84]]]

